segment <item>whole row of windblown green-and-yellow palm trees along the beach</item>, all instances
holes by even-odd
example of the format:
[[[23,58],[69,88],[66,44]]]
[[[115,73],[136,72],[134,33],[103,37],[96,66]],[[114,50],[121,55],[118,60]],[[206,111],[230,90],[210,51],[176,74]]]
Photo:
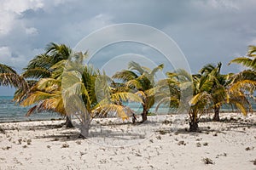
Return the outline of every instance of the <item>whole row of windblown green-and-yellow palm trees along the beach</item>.
[[[0,85],[16,88],[15,101],[20,105],[33,105],[26,113],[55,111],[66,116],[66,126],[73,127],[71,116],[81,124],[81,137],[89,135],[90,121],[96,116],[114,113],[122,119],[134,112],[125,101],[140,103],[142,122],[147,121],[148,110],[156,105],[180,108],[186,105],[189,130],[197,131],[201,115],[214,111],[213,121],[219,121],[222,105],[232,105],[244,115],[252,110],[249,102],[256,85],[256,46],[249,46],[247,56],[230,63],[247,67],[237,74],[221,74],[221,63],[205,65],[198,74],[177,70],[166,73],[166,79],[156,82],[155,74],[164,65],[153,70],[131,61],[127,70],[113,77],[101,73],[93,65],[83,65],[87,52],[73,52],[64,44],[49,43],[44,54],[32,59],[19,75],[8,65],[0,64]],[[191,93],[183,98],[182,91]]]

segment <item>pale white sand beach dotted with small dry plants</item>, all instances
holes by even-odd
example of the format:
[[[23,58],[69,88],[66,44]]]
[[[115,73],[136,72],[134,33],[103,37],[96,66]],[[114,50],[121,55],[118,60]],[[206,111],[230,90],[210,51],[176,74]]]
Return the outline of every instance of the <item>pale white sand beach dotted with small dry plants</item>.
[[[0,169],[256,169],[256,115],[221,116],[237,121],[200,122],[201,133],[188,133],[187,122],[170,123],[175,116],[95,119],[90,139],[63,121],[1,123]]]

